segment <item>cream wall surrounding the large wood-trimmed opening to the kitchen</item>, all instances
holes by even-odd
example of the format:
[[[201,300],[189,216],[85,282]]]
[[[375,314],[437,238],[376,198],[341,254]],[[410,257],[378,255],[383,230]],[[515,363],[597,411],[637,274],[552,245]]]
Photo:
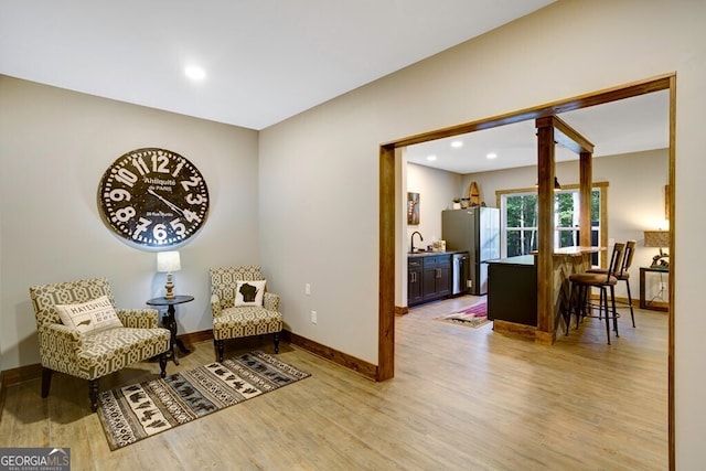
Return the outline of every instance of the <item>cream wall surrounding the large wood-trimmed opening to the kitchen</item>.
[[[706,167],[705,10],[695,0],[558,1],[263,131],[263,257],[288,283],[295,330],[376,363],[381,143],[676,71],[677,467],[706,461],[706,254],[693,217]],[[307,281],[315,295],[303,293]]]

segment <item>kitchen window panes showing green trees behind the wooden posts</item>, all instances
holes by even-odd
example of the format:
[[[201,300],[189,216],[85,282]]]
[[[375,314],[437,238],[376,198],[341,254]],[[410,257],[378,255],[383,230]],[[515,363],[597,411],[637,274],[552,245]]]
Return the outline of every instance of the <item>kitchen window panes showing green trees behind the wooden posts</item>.
[[[591,245],[600,246],[602,218],[605,216],[605,188],[596,184],[591,192]],[[513,190],[498,192],[501,205],[501,232],[503,257],[527,255],[537,249],[537,193],[536,190]],[[554,247],[580,245],[579,207],[580,199],[576,185],[567,185],[554,197]],[[593,265],[599,265],[598,254],[593,254]]]

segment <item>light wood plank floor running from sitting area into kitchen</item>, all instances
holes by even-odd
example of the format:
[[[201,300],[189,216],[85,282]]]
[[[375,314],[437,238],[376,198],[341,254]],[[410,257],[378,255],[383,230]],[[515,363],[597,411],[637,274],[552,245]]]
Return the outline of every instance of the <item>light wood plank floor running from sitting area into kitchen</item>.
[[[394,379],[285,344],[281,360],[311,377],[116,451],[85,382],[56,374],[47,399],[39,381],[12,386],[0,447],[71,447],[73,470],[667,469],[665,313],[637,311],[637,329],[623,317],[610,346],[597,319],[554,346],[432,320],[473,300],[398,317]],[[191,346],[168,373],[213,360],[211,342]],[[271,352],[269,339],[228,346]],[[136,365],[101,389],[157,371]]]

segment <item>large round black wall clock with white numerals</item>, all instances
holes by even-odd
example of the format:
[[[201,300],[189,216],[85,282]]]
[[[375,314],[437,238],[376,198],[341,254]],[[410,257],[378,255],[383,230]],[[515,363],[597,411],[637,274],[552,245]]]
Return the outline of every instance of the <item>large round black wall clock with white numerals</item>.
[[[145,248],[184,244],[208,215],[208,189],[184,157],[165,149],[132,150],[106,170],[98,186],[105,223]]]

